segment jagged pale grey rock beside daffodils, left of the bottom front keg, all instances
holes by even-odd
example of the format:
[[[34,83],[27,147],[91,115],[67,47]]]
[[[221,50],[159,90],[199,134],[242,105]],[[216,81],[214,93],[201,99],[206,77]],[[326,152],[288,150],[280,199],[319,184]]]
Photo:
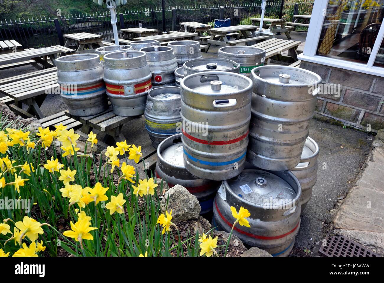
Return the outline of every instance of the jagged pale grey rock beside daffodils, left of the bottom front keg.
[[[167,207],[167,198],[168,207]],[[168,190],[168,195],[160,201],[161,212],[172,210],[172,219],[186,221],[200,216],[201,207],[196,196],[181,185],[175,185]]]

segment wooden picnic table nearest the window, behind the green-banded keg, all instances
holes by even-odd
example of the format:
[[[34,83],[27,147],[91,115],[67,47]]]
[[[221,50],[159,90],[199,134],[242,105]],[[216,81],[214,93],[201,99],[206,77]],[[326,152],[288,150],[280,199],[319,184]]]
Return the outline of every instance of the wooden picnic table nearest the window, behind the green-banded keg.
[[[269,64],[271,59],[296,62],[297,61],[297,47],[300,45],[300,41],[287,40],[280,38],[271,38],[265,42],[260,42],[253,47],[265,49],[265,64]],[[282,55],[283,52],[288,50],[288,56]]]

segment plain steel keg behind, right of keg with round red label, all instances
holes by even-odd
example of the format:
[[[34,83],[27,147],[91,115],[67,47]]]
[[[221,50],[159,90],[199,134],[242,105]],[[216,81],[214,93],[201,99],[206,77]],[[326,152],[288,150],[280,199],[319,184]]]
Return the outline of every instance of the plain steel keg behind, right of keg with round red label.
[[[199,59],[202,57],[200,51],[200,43],[194,40],[180,40],[168,43],[168,47],[173,49],[177,65],[182,67],[183,64],[192,59]]]

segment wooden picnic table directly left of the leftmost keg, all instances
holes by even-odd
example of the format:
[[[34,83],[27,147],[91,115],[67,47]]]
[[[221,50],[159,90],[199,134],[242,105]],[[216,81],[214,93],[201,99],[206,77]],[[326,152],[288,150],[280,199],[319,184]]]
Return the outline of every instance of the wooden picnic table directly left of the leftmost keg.
[[[40,110],[45,97],[58,87],[56,67],[0,80],[0,93],[13,98],[21,109],[22,103],[28,105],[26,112],[39,119],[45,117]]]

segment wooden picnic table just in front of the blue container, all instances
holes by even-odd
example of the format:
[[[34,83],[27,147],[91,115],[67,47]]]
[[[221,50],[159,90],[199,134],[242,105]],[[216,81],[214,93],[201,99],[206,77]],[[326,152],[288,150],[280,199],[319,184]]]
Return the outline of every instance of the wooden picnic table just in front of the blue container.
[[[254,25],[237,25],[233,27],[222,27],[222,28],[210,28],[208,30],[208,33],[210,34],[210,38],[207,40],[208,42],[208,49],[211,44],[215,45],[221,45],[221,46],[226,46],[226,45],[237,45],[240,43],[251,43],[251,42],[256,42],[258,40],[270,38],[269,36],[263,35],[263,36],[256,36],[256,31],[257,31],[256,26]],[[233,32],[238,32],[237,37],[235,40],[229,41],[227,38],[228,33],[233,33]],[[252,35],[252,37],[249,37],[248,33]],[[215,39],[218,37],[218,40]]]

